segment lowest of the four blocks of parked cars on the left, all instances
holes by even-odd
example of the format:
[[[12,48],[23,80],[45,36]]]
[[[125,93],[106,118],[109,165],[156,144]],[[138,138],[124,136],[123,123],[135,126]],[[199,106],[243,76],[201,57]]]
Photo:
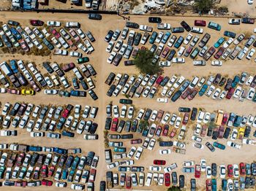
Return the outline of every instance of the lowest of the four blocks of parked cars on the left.
[[[10,149],[12,149],[12,144],[10,144]],[[56,182],[64,181],[56,183],[56,187],[67,187],[67,182],[86,184],[87,182],[94,182],[98,160],[99,157],[94,152],[88,152],[82,157],[56,155],[50,152],[47,155],[37,152],[32,154],[29,152],[2,152],[0,177],[5,180],[19,179],[18,183],[23,179],[33,179],[36,183],[34,186],[41,184],[51,186],[53,182],[48,180],[51,177]],[[42,180],[38,181],[39,179]],[[27,184],[24,181],[20,182],[20,185],[15,184],[15,186],[26,187]]]

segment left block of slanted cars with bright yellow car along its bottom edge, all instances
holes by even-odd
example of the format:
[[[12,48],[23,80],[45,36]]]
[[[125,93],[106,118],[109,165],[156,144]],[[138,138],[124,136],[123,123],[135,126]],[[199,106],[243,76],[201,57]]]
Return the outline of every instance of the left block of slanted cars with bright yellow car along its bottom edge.
[[[21,60],[12,60],[9,64],[7,62],[1,63],[0,68],[4,74],[0,74],[0,80],[4,87],[10,87],[11,82],[11,85],[13,85],[15,88],[26,87],[27,85],[30,85],[33,88],[23,88],[21,91],[14,89],[15,92],[12,92],[12,89],[6,90],[5,88],[1,88],[1,93],[10,92],[20,94],[21,92],[22,95],[34,95],[35,92],[39,92],[42,88],[49,88],[45,89],[45,94],[55,95],[59,93],[61,96],[72,95],[85,97],[85,90],[89,90],[89,95],[95,94],[94,90],[91,90],[95,87],[91,76],[95,76],[97,73],[91,64],[81,64],[79,69],[74,63],[67,63],[60,67],[58,63],[50,64],[48,62],[44,62],[42,63],[42,66],[46,69],[50,77],[44,77],[41,72],[39,72],[37,67],[31,62],[29,62],[27,65]],[[63,85],[64,88],[70,87],[69,81],[67,77],[65,77],[65,73],[71,70],[75,74],[75,77],[72,79],[72,85],[74,86],[75,90],[71,90],[69,93],[64,90],[53,89],[54,87],[61,87],[61,85]],[[86,79],[84,76],[86,76]],[[10,79],[10,82],[8,79]],[[78,90],[80,86],[83,87],[83,90]],[[92,98],[97,98],[95,95]]]

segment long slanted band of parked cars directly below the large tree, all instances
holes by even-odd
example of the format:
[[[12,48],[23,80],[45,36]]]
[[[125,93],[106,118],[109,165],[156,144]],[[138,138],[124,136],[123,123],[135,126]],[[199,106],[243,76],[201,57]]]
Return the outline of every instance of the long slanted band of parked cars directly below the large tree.
[[[176,101],[178,98],[188,98],[192,100],[195,95],[206,95],[214,100],[223,98],[238,98],[239,101],[245,99],[256,101],[255,86],[256,76],[243,72],[232,78],[223,77],[221,74],[211,75],[210,77],[193,77],[190,81],[185,77],[163,77],[157,75],[140,74],[137,78],[128,74],[114,74],[111,72],[105,81],[110,85],[107,92],[108,96],[117,96],[119,93],[135,96],[139,98],[154,98],[159,87],[162,87],[161,95],[166,98],[157,98],[159,102]],[[218,87],[219,86],[219,87]],[[249,86],[249,89],[243,88]],[[224,87],[224,90],[222,90]]]

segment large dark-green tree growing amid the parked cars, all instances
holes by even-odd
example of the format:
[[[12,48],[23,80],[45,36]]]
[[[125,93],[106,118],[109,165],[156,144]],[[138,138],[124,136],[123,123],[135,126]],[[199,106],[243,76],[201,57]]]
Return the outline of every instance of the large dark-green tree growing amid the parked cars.
[[[149,50],[139,50],[133,63],[135,63],[135,66],[142,74],[153,75],[162,73],[162,68],[158,64],[152,64],[153,58],[154,53]]]

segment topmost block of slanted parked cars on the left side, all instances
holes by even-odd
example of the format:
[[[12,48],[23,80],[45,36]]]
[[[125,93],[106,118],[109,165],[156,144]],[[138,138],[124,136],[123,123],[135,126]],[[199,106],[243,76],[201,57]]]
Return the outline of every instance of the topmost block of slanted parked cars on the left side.
[[[78,22],[67,22],[64,28],[60,28],[59,31],[56,30],[57,27],[61,26],[59,21],[48,21],[47,27],[42,29],[40,28],[44,26],[42,20],[30,20],[31,26],[34,26],[33,29],[29,26],[22,28],[20,24],[15,21],[8,22],[8,24],[9,25],[4,24],[0,28],[0,35],[4,44],[9,48],[12,46],[20,46],[25,52],[29,52],[32,47],[37,47],[37,49],[42,50],[43,43],[49,50],[53,50],[54,47],[58,49],[61,47],[65,49],[70,47],[73,51],[69,52],[69,55],[74,57],[82,57],[80,52],[74,52],[78,50],[78,48],[86,53],[94,51],[94,48],[91,46],[91,42],[95,41],[94,36],[92,36],[90,31],[84,33]],[[69,32],[66,30],[69,30]],[[85,39],[86,36],[91,42]],[[82,40],[84,40],[84,44]],[[1,45],[3,46],[4,44]],[[56,51],[54,51],[54,53],[55,52]],[[67,55],[67,51],[62,55]]]

